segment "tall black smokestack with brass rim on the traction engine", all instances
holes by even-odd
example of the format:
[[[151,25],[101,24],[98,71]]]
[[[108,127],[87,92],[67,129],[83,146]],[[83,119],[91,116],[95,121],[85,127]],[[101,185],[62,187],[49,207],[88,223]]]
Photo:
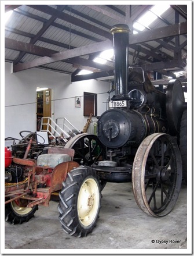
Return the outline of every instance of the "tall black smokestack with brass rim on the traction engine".
[[[128,51],[129,32],[126,24],[118,24],[112,27],[114,47],[114,69],[115,69],[115,99],[126,99],[128,80]]]

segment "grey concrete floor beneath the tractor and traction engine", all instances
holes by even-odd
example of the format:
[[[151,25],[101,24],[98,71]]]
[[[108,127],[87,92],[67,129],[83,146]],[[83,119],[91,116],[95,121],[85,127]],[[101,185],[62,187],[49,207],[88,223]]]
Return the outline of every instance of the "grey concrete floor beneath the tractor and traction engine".
[[[57,201],[50,201],[49,207],[39,206],[35,217],[27,223],[5,223],[6,250],[3,253],[131,254],[132,249],[135,253],[138,253],[137,249],[183,249],[178,250],[178,253],[183,254],[188,251],[184,250],[187,249],[186,186],[182,184],[180,196],[169,215],[153,218],[138,208],[131,185],[107,183],[103,190],[100,218],[87,237],[78,239],[61,229]],[[162,243],[164,240],[167,243]],[[148,251],[140,250],[140,253]],[[167,251],[164,250],[164,253]],[[169,251],[174,253],[174,250]],[[161,251],[157,250],[156,253]]]

